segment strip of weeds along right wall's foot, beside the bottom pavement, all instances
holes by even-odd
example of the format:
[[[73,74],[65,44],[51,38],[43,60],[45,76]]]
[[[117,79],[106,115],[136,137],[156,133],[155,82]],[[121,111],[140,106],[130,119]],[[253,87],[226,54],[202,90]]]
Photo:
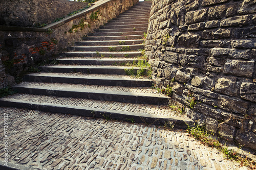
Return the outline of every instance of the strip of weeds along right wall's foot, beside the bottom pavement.
[[[238,151],[230,150],[226,147],[226,145],[223,145],[218,140],[212,138],[212,135],[209,135],[205,127],[200,127],[196,125],[195,127],[190,127],[187,125],[187,130],[189,134],[194,136],[197,140],[200,140],[204,145],[211,148],[216,148],[223,154],[225,154],[227,159],[235,160],[237,162],[240,162],[241,166],[247,166],[250,169],[256,169],[255,162],[252,160],[249,160],[247,157],[242,157]],[[240,146],[239,149],[241,149],[243,146]]]

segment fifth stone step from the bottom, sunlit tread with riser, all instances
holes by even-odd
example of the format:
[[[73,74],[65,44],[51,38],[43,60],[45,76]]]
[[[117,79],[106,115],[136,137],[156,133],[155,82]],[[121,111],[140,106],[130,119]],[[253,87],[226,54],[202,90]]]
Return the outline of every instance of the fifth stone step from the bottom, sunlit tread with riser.
[[[131,58],[59,58],[56,59],[59,64],[75,64],[75,65],[124,65],[127,63],[137,64],[139,59]],[[145,61],[145,60],[143,60]]]

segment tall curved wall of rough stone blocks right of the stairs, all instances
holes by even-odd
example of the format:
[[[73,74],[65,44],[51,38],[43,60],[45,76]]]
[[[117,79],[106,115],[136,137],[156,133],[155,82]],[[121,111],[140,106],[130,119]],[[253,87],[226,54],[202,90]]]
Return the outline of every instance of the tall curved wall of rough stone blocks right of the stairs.
[[[156,85],[223,139],[256,150],[256,2],[153,0],[145,50]]]

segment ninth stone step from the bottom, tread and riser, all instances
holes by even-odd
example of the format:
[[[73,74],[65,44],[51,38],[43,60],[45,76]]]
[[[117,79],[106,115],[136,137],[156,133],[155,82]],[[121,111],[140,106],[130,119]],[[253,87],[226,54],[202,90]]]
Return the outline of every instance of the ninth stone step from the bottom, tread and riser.
[[[128,39],[142,39],[144,34],[141,35],[121,35],[121,36],[105,36],[105,37],[82,37],[82,40],[91,40],[91,41],[109,41],[109,40],[128,40]]]

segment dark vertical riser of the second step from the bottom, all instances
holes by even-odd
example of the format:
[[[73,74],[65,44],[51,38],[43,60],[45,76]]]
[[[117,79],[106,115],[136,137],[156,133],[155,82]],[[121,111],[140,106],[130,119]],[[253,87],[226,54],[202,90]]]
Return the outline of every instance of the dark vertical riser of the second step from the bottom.
[[[40,89],[40,88],[27,88],[27,87],[14,87],[19,93],[28,93],[36,95],[54,95],[65,98],[82,98],[93,99],[100,101],[113,101],[122,103],[135,103],[135,104],[149,104],[149,105],[166,105],[168,104],[168,98],[158,98],[154,96],[143,95],[124,95],[113,93],[100,93],[91,90],[91,92],[84,91],[67,91],[67,90],[52,90],[52,89]]]

